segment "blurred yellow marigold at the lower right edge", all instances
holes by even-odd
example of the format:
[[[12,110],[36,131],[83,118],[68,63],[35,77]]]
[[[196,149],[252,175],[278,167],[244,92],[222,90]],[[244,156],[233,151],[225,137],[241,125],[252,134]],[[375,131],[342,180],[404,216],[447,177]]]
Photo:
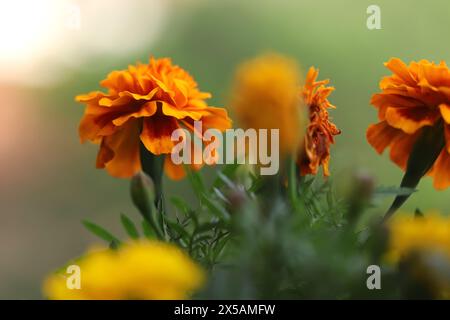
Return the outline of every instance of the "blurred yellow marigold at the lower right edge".
[[[437,254],[447,261],[450,271],[450,218],[437,213],[423,218],[411,218],[398,215],[388,224],[389,246],[386,259],[398,263],[411,254],[432,256]],[[443,277],[440,270],[434,270],[433,264],[420,263],[414,274],[425,280],[441,298],[450,298],[450,278]],[[448,272],[447,272],[448,275]]]

